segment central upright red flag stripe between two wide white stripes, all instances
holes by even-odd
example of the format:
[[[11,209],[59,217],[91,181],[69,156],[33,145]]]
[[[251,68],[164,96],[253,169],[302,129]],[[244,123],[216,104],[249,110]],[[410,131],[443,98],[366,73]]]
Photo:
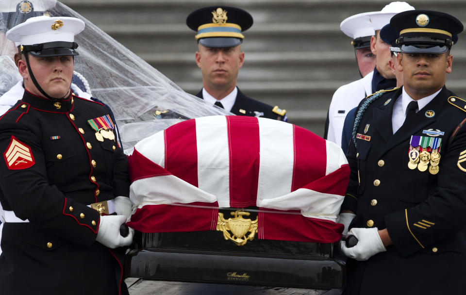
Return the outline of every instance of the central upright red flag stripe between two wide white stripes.
[[[227,116],[230,152],[230,206],[256,206],[259,181],[259,122]]]

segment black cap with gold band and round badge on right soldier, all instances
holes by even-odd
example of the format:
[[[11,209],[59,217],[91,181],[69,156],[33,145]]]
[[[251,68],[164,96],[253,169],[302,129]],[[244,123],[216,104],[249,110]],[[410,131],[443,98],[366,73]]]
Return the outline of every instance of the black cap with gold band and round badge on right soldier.
[[[410,10],[392,17],[399,32],[397,45],[405,53],[444,53],[458,40],[463,24],[456,17],[431,10]]]

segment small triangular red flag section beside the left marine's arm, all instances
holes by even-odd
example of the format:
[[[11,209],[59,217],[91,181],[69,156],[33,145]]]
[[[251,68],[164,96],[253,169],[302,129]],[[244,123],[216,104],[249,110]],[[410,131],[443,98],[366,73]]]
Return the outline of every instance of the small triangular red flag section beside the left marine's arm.
[[[136,149],[134,149],[133,154],[128,157],[128,172],[130,174],[131,183],[138,179],[171,175],[171,173],[166,171],[162,166],[150,161]]]

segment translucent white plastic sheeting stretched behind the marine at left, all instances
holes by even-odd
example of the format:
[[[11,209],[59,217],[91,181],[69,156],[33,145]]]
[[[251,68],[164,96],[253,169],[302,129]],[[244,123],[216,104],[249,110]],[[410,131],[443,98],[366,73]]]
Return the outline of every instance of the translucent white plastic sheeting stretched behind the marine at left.
[[[12,7],[18,7],[22,2],[25,1],[1,0],[0,29],[10,29],[11,24],[16,25],[26,20],[24,13],[11,11]],[[75,70],[89,83],[92,96],[111,107],[125,151],[130,152],[141,139],[180,121],[207,115],[232,115],[187,94],[158,70],[65,4],[51,0],[29,2],[34,7],[32,16],[72,16],[85,22],[84,31],[75,37],[80,54],[75,59]],[[27,5],[18,9],[26,8]],[[4,39],[0,38],[0,53],[10,52],[6,56],[13,59],[11,52],[14,53],[15,46],[11,41]],[[9,81],[8,77],[15,83],[20,79],[11,70],[11,65],[4,67],[3,63],[0,67],[0,77],[0,85]]]

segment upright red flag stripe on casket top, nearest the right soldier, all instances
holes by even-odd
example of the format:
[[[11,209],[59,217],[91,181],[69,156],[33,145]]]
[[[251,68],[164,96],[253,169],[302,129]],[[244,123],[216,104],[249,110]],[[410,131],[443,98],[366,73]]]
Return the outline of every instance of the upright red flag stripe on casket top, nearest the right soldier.
[[[325,176],[327,149],[325,140],[302,127],[293,125],[295,163],[291,191]]]

